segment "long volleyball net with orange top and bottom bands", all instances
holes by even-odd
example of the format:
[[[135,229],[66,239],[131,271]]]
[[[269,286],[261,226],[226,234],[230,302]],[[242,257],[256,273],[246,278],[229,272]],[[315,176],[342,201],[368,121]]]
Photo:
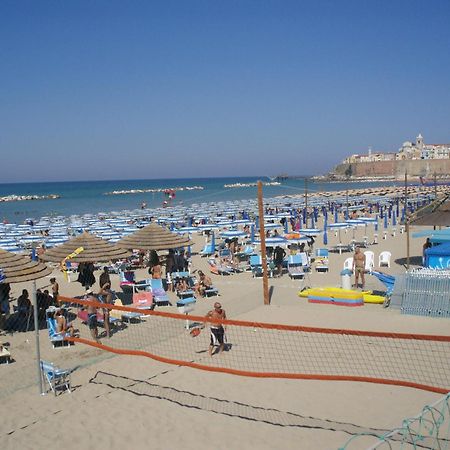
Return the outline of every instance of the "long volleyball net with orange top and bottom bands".
[[[450,336],[311,328],[237,320],[216,321],[61,297],[79,330],[66,338],[100,349],[234,375],[347,380],[450,391]],[[96,332],[87,308],[97,309]],[[106,338],[103,312],[109,311]],[[211,327],[225,330],[225,351],[210,357]],[[217,333],[216,333],[217,334]],[[194,336],[194,337],[193,337]],[[216,344],[217,342],[214,342]]]

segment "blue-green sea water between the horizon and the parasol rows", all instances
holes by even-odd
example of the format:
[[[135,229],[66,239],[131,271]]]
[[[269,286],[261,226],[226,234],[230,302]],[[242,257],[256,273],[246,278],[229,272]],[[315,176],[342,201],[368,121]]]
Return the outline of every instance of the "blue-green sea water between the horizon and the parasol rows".
[[[260,178],[269,181],[267,178]],[[16,183],[0,184],[0,197],[16,195],[49,195],[58,194],[59,199],[27,200],[0,203],[0,219],[9,222],[23,222],[25,218],[38,219],[42,216],[70,216],[72,214],[86,214],[97,212],[120,211],[139,208],[146,202],[149,208],[159,207],[165,200],[161,192],[105,195],[114,190],[175,188],[185,186],[203,186],[203,190],[177,191],[174,205],[202,202],[218,202],[224,200],[239,200],[256,198],[256,187],[225,188],[230,183],[253,183],[258,178],[187,178],[165,180],[112,180],[112,181],[78,181],[52,183]],[[308,181],[310,192],[336,191],[356,187],[376,187],[392,185],[392,182],[377,183],[324,183]],[[304,181],[292,179],[282,182],[280,186],[264,186],[264,196],[301,194],[304,192]]]

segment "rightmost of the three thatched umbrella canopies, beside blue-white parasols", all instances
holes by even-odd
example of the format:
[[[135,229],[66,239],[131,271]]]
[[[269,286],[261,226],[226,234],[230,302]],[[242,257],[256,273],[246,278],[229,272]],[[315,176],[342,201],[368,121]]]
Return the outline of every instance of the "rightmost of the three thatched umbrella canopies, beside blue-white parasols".
[[[116,243],[117,247],[139,250],[169,250],[192,245],[187,236],[180,236],[151,223]]]

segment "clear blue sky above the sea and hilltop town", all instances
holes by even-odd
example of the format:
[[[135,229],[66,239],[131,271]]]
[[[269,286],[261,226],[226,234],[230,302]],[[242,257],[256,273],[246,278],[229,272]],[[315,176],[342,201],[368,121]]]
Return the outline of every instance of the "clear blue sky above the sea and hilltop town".
[[[449,24],[449,0],[2,0],[1,181],[318,174],[450,142]]]

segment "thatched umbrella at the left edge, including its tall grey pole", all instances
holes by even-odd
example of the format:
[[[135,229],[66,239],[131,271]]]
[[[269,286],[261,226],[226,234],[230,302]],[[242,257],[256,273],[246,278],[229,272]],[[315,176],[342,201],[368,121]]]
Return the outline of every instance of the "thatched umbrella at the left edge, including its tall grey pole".
[[[38,323],[38,307],[36,296],[36,280],[50,275],[52,271],[45,265],[37,261],[32,261],[25,256],[16,255],[6,250],[0,249],[0,283],[22,283],[25,281],[33,282],[31,299],[33,303],[34,330],[36,341],[36,361],[38,370],[39,393],[42,394],[42,377],[41,377],[41,352],[39,346],[39,323]],[[27,325],[28,330],[28,325]]]

